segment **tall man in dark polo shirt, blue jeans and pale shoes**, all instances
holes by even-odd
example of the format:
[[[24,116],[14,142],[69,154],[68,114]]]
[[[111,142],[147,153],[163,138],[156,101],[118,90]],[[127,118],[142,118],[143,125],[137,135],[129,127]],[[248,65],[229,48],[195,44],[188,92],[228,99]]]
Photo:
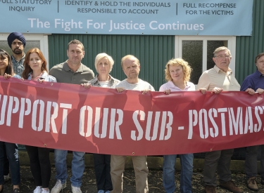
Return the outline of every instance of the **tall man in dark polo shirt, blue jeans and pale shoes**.
[[[84,58],[84,46],[79,40],[72,40],[67,49],[68,60],[51,68],[49,74],[56,77],[58,82],[68,84],[83,84],[94,79],[94,72],[89,67],[82,64]],[[55,149],[54,159],[56,167],[56,185],[51,189],[51,193],[61,192],[66,187],[67,166],[66,157],[68,151]],[[73,193],[82,193],[82,175],[84,172],[84,152],[73,152],[72,162],[72,183]]]

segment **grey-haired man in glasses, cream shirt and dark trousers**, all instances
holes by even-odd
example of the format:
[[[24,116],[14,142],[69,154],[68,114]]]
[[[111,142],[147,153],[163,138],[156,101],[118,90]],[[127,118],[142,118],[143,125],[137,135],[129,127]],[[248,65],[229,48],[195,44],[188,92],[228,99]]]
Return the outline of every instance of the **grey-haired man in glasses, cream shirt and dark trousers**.
[[[232,69],[229,68],[232,59],[230,50],[222,46],[216,48],[213,54],[215,66],[203,72],[197,84],[197,89],[202,93],[206,93],[206,91],[212,91],[212,93],[240,91],[240,85],[234,77]],[[216,193],[216,171],[218,171],[220,187],[224,187],[235,193],[243,192],[231,180],[230,163],[233,152],[234,149],[222,149],[206,153],[203,168],[203,180],[206,185],[206,193]]]

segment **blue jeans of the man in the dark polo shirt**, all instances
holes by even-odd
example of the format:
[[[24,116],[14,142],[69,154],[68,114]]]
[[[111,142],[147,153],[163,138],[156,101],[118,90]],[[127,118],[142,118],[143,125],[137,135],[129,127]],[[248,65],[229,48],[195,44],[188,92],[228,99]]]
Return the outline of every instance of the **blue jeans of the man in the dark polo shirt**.
[[[64,184],[68,178],[67,174],[67,164],[66,157],[68,151],[61,149],[54,149],[54,159],[55,159],[55,168],[56,168],[56,179],[61,180],[61,183]],[[72,161],[72,177],[70,182],[74,187],[82,186],[82,175],[84,173],[84,152],[73,152],[73,161]]]

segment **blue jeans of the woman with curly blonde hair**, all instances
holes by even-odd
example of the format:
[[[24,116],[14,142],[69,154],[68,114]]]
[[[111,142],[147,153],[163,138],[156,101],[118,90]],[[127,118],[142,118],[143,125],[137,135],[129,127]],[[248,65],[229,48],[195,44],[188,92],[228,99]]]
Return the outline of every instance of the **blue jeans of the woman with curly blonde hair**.
[[[180,154],[181,175],[180,192],[191,193],[191,178],[194,154]],[[175,162],[177,155],[163,156],[163,186],[166,193],[175,192]]]

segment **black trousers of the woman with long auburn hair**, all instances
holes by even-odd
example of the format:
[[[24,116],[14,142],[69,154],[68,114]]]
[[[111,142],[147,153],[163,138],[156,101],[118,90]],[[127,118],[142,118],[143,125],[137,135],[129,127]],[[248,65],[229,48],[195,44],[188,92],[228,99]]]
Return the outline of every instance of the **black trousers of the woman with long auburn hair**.
[[[49,187],[51,179],[51,163],[49,161],[49,149],[25,145],[30,157],[30,169],[36,186]]]

